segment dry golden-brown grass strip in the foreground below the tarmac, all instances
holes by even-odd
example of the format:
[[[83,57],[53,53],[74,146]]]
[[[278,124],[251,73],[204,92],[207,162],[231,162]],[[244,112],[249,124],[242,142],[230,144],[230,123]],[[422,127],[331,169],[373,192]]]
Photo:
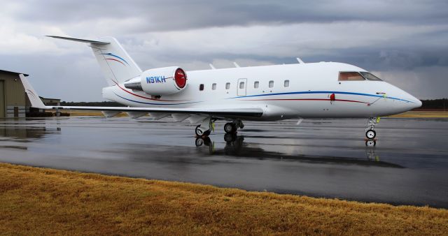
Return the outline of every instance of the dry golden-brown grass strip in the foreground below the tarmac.
[[[447,235],[448,210],[0,163],[4,235]]]

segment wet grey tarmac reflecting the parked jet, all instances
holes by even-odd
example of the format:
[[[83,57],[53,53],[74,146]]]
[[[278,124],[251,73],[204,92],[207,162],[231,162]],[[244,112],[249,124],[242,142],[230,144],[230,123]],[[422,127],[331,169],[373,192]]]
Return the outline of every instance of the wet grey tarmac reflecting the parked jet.
[[[246,122],[236,137],[217,122],[196,140],[169,119],[3,119],[0,162],[448,208],[448,119],[381,119],[372,147],[365,120],[296,122]]]

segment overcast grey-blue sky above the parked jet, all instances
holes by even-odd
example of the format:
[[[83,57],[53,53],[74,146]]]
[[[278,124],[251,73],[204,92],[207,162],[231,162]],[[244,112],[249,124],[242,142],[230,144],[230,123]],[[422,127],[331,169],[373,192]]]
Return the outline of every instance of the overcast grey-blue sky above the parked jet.
[[[417,98],[448,97],[448,1],[3,1],[0,69],[39,95],[104,101],[87,45],[114,36],[142,70],[339,61]]]

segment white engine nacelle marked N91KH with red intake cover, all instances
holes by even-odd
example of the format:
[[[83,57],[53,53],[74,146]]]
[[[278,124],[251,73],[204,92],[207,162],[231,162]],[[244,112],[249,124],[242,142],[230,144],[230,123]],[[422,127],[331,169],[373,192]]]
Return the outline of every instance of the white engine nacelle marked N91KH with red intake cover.
[[[144,91],[153,96],[176,94],[187,85],[187,75],[178,66],[155,68],[141,73],[140,78],[125,82],[127,89]]]

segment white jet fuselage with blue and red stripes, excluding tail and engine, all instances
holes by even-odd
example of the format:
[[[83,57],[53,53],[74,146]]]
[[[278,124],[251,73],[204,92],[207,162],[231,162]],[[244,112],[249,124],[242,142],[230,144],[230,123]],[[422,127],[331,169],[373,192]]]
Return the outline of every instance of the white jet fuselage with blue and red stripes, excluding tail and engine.
[[[384,81],[339,81],[341,71],[365,70],[320,62],[188,71],[187,86],[177,94],[154,98],[116,84],[104,88],[103,96],[130,107],[262,108],[262,117],[239,117],[256,120],[382,117],[421,106]]]

